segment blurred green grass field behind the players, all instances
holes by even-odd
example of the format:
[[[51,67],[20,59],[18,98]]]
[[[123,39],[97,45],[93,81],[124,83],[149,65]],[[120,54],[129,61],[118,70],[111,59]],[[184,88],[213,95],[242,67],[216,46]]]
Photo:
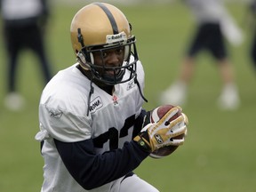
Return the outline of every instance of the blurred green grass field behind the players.
[[[52,7],[48,31],[48,52],[57,72],[76,60],[69,40],[69,26],[81,6]],[[161,4],[120,7],[132,22],[137,37],[140,60],[146,71],[145,108],[158,105],[157,96],[177,77],[193,23],[183,4]],[[244,4],[229,4],[228,9],[239,23],[244,22]],[[2,32],[1,32],[2,35]],[[244,35],[250,35],[248,31]],[[249,58],[250,36],[239,47],[230,46],[231,61],[236,69],[236,82],[241,107],[221,111],[216,100],[221,89],[214,60],[207,54],[198,58],[196,76],[189,86],[188,138],[172,156],[148,157],[135,171],[161,192],[255,192],[256,148],[255,108],[256,74]],[[6,63],[3,38],[0,40],[0,191],[36,192],[43,182],[43,158],[39,143],[38,101],[44,88],[43,76],[31,52],[20,58],[19,90],[27,108],[14,113],[4,108]]]

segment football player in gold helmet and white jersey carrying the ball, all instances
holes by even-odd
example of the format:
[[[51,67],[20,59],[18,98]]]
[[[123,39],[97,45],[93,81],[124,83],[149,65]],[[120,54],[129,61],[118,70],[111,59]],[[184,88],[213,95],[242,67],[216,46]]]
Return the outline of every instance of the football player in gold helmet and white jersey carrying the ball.
[[[184,138],[172,138],[186,132],[186,119],[164,124],[177,107],[146,122],[144,71],[131,29],[111,4],[88,4],[72,20],[77,63],[52,78],[39,104],[42,192],[158,191],[132,171],[157,148],[181,145]]]

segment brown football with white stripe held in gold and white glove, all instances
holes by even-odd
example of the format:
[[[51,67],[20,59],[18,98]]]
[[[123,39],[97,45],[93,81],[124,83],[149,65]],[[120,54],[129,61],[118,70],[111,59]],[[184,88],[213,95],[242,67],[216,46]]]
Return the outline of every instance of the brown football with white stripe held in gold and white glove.
[[[164,105],[164,106],[160,106],[156,109],[153,109],[151,111],[150,123],[155,123],[155,122],[159,121],[173,107],[174,106],[172,106],[172,105]],[[177,114],[175,114],[175,116],[172,116],[172,118],[169,119],[168,122],[172,122],[172,120],[176,119],[179,116],[182,116],[181,111],[179,111]],[[182,134],[175,138],[182,139],[184,136],[185,135]],[[177,148],[178,148],[178,146],[166,146],[164,148],[159,148],[159,149],[155,150],[149,156],[151,156],[153,158],[162,158],[164,156],[171,155]]]

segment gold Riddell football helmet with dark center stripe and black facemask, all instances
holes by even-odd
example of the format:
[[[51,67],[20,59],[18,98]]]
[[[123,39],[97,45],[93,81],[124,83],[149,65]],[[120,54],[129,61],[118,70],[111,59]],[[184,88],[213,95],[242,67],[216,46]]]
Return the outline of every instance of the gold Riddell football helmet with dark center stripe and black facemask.
[[[124,13],[111,4],[88,4],[76,13],[70,27],[71,43],[80,66],[91,70],[91,80],[113,85],[130,81],[136,76],[139,58],[131,30],[132,26]],[[94,53],[100,53],[103,58],[104,52],[119,48],[124,49],[124,62],[120,66],[94,63]],[[111,75],[107,70],[112,70]],[[124,78],[125,72],[129,76]]]

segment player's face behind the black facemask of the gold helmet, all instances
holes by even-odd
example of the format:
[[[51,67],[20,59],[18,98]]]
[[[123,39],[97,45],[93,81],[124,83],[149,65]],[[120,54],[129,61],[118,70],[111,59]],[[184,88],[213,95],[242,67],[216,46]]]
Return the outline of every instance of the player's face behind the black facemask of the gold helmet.
[[[101,52],[93,52],[94,64],[104,67],[99,70],[100,74],[114,76],[118,74],[124,62],[124,46],[115,49],[108,49]],[[116,68],[117,67],[117,68]],[[113,70],[113,68],[116,68]]]

